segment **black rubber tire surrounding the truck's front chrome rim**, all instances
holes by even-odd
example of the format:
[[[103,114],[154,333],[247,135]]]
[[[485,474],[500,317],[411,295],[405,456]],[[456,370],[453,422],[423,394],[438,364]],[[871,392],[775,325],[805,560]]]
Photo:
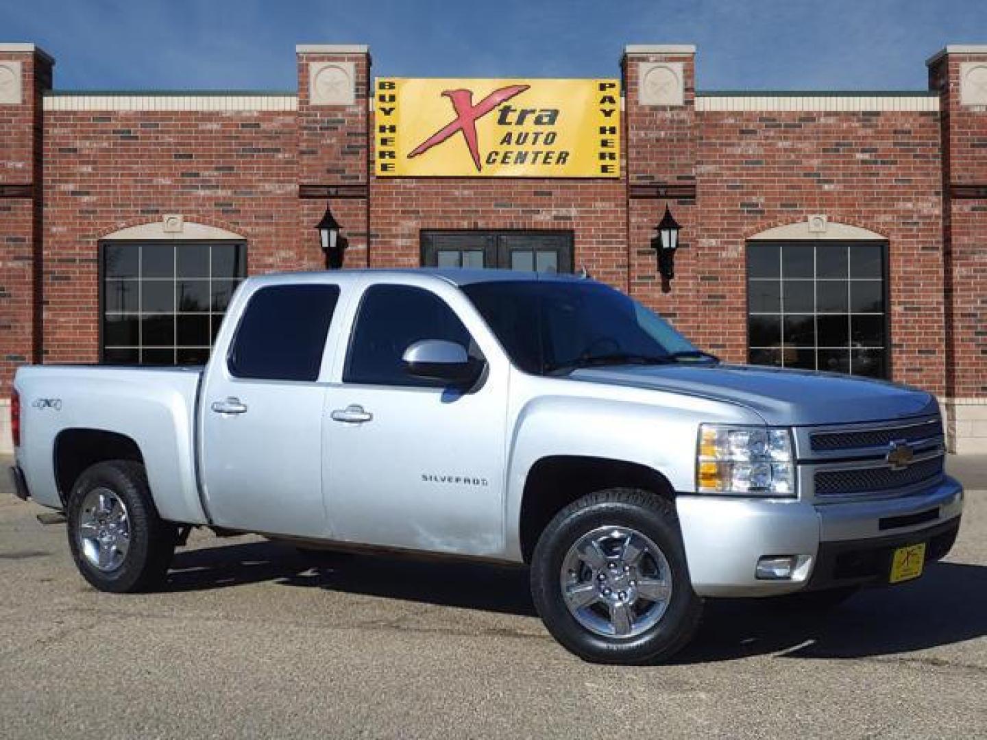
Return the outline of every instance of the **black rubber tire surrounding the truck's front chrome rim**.
[[[640,634],[604,636],[587,629],[573,617],[563,597],[562,569],[569,548],[600,527],[624,527],[645,535],[667,561],[671,599],[659,621]],[[689,579],[674,505],[660,495],[633,488],[590,493],[555,516],[532,556],[531,593],[552,635],[570,652],[592,663],[641,665],[665,660],[692,639],[703,611],[702,600]]]

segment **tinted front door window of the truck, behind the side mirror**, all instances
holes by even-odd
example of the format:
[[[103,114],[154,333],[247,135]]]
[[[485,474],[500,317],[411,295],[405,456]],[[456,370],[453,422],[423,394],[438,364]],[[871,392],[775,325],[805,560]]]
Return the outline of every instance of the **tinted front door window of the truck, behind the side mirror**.
[[[368,288],[360,302],[342,380],[384,386],[443,385],[414,378],[405,370],[405,350],[422,339],[444,339],[474,349],[459,317],[435,294],[410,285]]]

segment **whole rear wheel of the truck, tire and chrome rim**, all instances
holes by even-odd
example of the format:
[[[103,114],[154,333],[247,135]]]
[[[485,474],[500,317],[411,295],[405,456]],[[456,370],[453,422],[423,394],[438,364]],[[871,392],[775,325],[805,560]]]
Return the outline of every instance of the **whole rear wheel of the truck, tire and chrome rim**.
[[[178,541],[178,528],[158,516],[143,466],[128,460],[97,463],[79,476],[67,530],[79,572],[114,593],[161,583]]]

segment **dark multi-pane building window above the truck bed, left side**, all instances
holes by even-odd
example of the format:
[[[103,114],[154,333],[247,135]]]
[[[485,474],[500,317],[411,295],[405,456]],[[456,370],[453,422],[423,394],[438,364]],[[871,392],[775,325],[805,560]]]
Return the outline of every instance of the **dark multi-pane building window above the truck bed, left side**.
[[[203,364],[246,257],[236,243],[103,244],[103,361]]]

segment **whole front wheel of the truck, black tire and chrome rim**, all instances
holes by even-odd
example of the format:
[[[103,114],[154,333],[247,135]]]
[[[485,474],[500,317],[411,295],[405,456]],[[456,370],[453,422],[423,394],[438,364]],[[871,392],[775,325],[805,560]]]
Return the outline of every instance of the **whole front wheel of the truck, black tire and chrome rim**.
[[[596,663],[666,659],[702,613],[675,509],[645,490],[597,491],[560,511],[535,548],[531,590],[553,636]]]

